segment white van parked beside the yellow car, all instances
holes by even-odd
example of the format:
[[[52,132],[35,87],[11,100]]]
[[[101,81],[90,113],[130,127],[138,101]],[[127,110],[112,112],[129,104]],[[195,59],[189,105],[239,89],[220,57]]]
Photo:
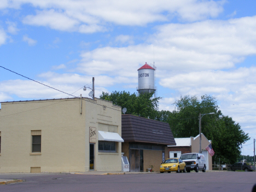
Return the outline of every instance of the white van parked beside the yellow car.
[[[187,172],[191,170],[206,172],[206,159],[201,153],[184,153],[181,155],[181,160],[185,162]]]

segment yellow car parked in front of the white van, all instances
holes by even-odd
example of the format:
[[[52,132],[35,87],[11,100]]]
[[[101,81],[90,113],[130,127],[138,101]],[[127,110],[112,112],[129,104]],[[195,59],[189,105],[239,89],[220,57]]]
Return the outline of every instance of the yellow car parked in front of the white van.
[[[176,171],[177,173],[180,172],[186,172],[186,164],[179,158],[170,158],[166,159],[161,165],[160,165],[160,173],[168,172],[171,173],[171,171]]]

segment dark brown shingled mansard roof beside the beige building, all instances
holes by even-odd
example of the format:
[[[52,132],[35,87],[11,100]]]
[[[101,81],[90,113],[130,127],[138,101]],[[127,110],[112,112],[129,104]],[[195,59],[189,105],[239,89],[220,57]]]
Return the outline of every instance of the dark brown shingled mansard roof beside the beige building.
[[[176,146],[168,123],[135,115],[122,115],[122,138],[125,142],[158,143]]]

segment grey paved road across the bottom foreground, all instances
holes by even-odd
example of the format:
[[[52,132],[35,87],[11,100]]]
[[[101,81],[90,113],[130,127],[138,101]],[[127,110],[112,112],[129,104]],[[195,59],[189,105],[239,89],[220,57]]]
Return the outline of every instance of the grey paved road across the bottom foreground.
[[[256,172],[150,173],[150,174],[0,174],[0,179],[25,182],[0,185],[0,191],[252,191]]]

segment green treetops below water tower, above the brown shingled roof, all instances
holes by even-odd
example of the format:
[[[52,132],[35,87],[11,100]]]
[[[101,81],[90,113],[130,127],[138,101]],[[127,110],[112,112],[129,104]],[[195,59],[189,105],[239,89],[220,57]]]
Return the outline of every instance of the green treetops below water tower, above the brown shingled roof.
[[[130,94],[126,91],[114,91],[111,94],[102,92],[101,99],[112,101],[122,108],[127,108],[127,114],[137,115],[139,117],[155,119],[158,113],[158,103],[160,97],[152,98],[154,93]]]

